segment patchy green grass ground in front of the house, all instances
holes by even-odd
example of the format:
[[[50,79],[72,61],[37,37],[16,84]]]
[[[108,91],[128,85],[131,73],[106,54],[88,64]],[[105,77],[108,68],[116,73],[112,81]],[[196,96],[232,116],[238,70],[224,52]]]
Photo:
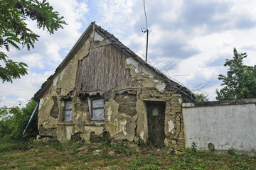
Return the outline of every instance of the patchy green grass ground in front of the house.
[[[256,169],[256,157],[124,143],[0,143],[0,150],[0,169]]]

